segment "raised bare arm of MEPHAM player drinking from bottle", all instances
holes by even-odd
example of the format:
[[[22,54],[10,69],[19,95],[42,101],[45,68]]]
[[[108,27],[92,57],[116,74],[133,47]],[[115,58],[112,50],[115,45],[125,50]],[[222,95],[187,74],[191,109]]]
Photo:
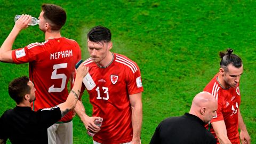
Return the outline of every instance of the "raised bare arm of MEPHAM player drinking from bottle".
[[[5,39],[4,43],[0,48],[0,61],[13,62],[12,60],[12,45],[22,29],[28,27],[28,23],[31,20],[31,15],[21,15],[19,20],[16,21],[11,33]]]

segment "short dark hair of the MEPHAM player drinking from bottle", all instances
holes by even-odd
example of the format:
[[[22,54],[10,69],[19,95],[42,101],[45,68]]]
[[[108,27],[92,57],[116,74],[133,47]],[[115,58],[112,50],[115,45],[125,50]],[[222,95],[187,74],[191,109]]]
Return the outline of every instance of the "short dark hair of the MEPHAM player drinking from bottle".
[[[54,4],[43,4],[43,17],[50,23],[51,30],[60,30],[65,25],[67,14],[62,7]]]

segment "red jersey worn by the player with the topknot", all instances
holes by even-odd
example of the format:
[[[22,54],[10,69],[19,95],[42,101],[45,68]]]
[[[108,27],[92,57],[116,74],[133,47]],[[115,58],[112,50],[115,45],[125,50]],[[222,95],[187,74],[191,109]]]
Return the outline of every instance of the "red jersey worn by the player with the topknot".
[[[210,92],[218,101],[217,117],[213,117],[211,123],[223,120],[226,125],[228,139],[231,143],[240,143],[238,133],[238,108],[241,102],[239,83],[236,88],[224,89],[218,82],[217,74],[205,86],[204,91]],[[211,133],[217,139],[212,126]],[[218,139],[217,143],[219,143]]]

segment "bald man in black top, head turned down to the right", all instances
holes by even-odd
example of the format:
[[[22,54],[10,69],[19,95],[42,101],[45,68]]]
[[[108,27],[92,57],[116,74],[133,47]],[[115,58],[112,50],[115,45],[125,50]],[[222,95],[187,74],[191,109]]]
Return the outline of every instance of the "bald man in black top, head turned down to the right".
[[[189,113],[162,121],[150,141],[153,143],[211,143],[216,139],[204,127],[216,116],[217,101],[209,92],[198,93],[193,99]]]

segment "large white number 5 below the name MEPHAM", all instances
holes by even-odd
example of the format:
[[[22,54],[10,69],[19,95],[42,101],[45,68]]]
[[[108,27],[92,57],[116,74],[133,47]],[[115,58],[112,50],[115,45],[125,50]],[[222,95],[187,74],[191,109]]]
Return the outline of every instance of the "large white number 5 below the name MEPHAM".
[[[62,79],[61,87],[57,88],[57,87],[54,87],[54,85],[52,85],[51,87],[49,87],[48,92],[61,92],[65,89],[67,76],[65,74],[57,74],[57,69],[67,68],[67,67],[68,67],[68,63],[60,63],[60,64],[57,64],[57,65],[53,65],[54,70],[52,71],[51,79]]]

